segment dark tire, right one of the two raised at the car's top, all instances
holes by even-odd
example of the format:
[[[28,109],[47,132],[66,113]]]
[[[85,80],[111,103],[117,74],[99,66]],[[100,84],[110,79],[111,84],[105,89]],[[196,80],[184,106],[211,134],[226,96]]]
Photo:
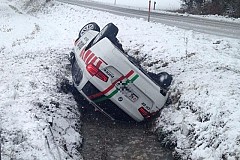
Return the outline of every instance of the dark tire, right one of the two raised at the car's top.
[[[96,35],[96,37],[92,41],[91,46],[93,46],[94,44],[96,44],[105,37],[107,37],[110,41],[114,43],[114,41],[117,41],[116,39],[117,34],[118,28],[113,23],[109,23]]]

